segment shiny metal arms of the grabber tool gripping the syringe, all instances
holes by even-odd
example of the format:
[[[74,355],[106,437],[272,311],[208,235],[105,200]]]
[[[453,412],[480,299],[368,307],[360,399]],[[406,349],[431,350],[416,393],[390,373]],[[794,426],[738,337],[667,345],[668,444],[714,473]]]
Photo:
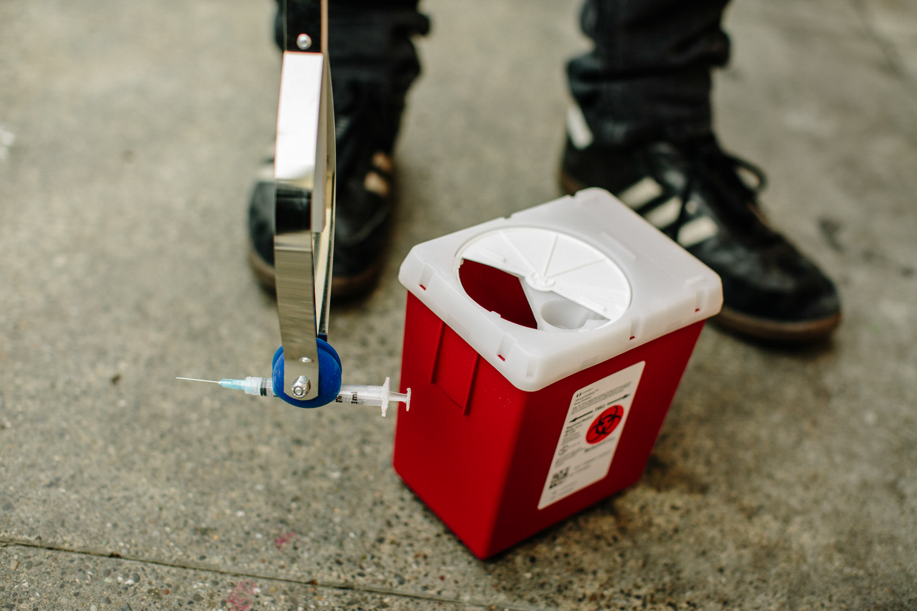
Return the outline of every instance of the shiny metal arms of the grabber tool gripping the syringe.
[[[316,339],[323,340],[322,344],[327,339],[331,302],[335,121],[327,0],[320,3],[320,28],[299,32],[295,38],[287,31],[287,1],[282,3],[284,50],[274,153],[274,266],[284,363],[282,390],[290,398],[309,400],[321,391],[321,344]],[[274,360],[276,363],[277,356]]]

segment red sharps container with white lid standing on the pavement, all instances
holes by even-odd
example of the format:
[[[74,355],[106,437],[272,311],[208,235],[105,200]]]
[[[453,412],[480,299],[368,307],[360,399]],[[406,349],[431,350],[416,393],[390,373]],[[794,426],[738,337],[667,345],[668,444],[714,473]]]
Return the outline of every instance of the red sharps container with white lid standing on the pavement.
[[[486,558],[643,472],[720,278],[588,189],[416,245],[394,468]]]

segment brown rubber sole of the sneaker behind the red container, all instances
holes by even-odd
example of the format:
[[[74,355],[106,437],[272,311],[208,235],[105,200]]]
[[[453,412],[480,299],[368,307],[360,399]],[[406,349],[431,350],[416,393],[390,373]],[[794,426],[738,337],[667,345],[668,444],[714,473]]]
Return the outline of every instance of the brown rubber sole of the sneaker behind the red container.
[[[568,195],[586,189],[586,185],[560,170],[560,188]],[[777,322],[735,311],[723,306],[720,313],[710,319],[724,329],[769,342],[812,342],[820,340],[837,328],[841,315],[813,321]]]

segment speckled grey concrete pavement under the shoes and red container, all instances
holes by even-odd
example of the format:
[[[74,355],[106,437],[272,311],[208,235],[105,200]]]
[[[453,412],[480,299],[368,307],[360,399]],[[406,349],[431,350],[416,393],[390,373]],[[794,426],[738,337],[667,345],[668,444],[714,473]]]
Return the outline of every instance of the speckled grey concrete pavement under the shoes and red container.
[[[578,4],[425,0],[346,381],[398,375],[411,245],[558,196]],[[0,3],[0,609],[917,608],[917,5],[736,0],[720,135],[845,322],[708,327],[641,482],[489,562],[392,473],[392,417],[174,379],[279,343],[245,262],[271,5]]]

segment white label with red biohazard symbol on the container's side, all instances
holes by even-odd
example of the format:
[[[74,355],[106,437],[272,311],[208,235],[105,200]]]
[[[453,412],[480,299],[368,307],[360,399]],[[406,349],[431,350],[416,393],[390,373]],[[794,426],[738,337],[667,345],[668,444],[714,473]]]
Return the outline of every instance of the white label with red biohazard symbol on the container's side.
[[[608,475],[645,365],[641,361],[573,393],[539,509]]]

